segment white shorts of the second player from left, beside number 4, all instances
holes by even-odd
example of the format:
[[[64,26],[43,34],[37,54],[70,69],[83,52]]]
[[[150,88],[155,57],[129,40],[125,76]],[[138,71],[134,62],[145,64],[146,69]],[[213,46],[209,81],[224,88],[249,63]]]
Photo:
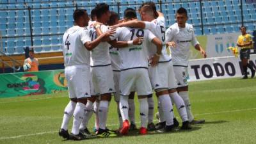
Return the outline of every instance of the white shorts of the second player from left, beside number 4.
[[[113,71],[111,65],[104,67],[91,67],[93,92],[92,95],[115,92]]]

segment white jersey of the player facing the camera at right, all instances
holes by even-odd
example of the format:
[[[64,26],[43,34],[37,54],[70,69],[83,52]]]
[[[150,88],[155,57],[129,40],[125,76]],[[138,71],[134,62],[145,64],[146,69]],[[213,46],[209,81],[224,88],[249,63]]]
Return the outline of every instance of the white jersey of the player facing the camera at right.
[[[176,47],[171,49],[173,65],[188,66],[190,43],[194,46],[199,44],[193,26],[186,23],[185,28],[180,28],[177,23],[173,24],[166,30],[166,40],[176,43]]]

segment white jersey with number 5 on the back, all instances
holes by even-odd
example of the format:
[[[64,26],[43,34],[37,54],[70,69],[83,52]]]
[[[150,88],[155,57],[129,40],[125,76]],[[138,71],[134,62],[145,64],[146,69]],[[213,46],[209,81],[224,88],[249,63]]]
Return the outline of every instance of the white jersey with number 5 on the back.
[[[165,20],[164,17],[158,17],[157,19],[152,20],[151,22],[145,22],[145,29],[149,29],[154,35],[159,38],[163,43],[162,54],[159,58],[159,62],[170,61],[172,58],[167,54],[166,51],[166,38],[165,38]],[[156,45],[147,44],[145,45],[148,48],[148,56],[152,57],[156,54],[157,47]]]

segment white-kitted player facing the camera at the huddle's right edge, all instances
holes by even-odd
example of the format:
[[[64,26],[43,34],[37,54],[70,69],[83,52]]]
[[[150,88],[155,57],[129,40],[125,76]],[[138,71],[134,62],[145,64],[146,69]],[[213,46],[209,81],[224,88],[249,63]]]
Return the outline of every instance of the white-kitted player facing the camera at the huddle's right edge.
[[[186,20],[188,20],[187,10],[185,8],[179,8],[176,13],[177,23],[166,30],[166,40],[173,47],[171,51],[175,77],[178,84],[177,90],[186,104],[188,120],[191,124],[202,124],[205,120],[195,120],[191,112],[191,104],[188,97],[187,80],[190,43],[194,45],[196,50],[200,51],[204,58],[206,58],[206,53],[196,40],[193,26],[186,23]],[[172,42],[175,42],[175,44],[173,45]]]

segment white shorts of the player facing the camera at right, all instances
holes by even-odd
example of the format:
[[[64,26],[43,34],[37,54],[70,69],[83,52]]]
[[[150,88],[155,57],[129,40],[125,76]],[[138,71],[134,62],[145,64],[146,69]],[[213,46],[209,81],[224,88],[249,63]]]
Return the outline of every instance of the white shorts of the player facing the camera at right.
[[[178,87],[188,86],[188,67],[175,66],[173,68]]]

